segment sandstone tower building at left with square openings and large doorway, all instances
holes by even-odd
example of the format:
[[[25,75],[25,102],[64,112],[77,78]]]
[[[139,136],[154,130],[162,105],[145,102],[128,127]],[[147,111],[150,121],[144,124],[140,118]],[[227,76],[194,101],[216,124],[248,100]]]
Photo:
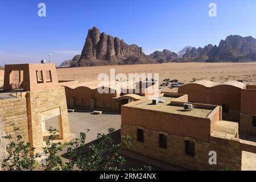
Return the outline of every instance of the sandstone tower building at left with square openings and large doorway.
[[[55,64],[5,65],[3,90],[0,121],[7,135],[14,134],[14,127],[19,127],[23,138],[36,148],[35,152],[42,151],[49,135],[45,122],[55,117],[59,123],[57,139],[70,139],[65,89],[59,86]]]

